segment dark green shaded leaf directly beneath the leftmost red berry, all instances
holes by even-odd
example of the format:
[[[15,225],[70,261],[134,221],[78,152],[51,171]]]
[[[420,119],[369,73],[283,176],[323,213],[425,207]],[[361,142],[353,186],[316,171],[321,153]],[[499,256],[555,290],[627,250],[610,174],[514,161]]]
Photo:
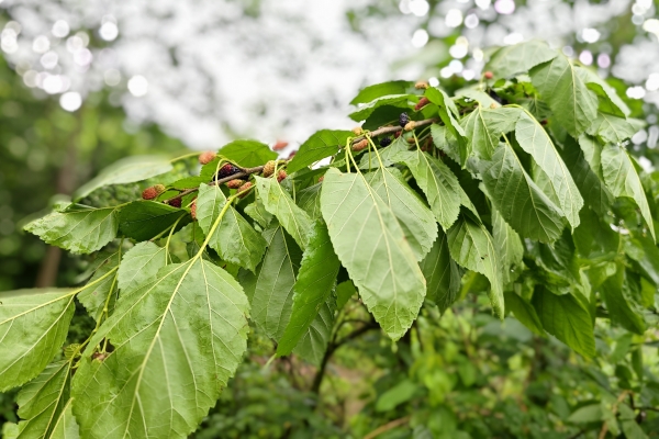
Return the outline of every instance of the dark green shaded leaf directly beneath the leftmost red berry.
[[[190,223],[185,209],[172,207],[155,201],[134,201],[119,212],[119,230],[135,240],[148,240],[175,223],[177,229]]]

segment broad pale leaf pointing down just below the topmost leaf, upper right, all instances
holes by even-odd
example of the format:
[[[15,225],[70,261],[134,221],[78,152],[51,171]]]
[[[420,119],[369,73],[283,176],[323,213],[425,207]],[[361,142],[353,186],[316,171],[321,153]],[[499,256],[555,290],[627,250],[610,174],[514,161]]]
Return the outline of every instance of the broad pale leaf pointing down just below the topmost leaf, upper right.
[[[562,54],[532,69],[530,78],[556,121],[572,137],[579,137],[597,116],[597,98]]]

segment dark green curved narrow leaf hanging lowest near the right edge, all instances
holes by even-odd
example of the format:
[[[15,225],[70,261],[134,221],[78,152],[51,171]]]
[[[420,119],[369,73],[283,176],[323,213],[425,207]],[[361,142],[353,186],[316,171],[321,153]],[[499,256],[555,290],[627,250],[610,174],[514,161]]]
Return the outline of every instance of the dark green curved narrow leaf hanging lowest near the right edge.
[[[643,317],[634,312],[625,297],[624,283],[625,268],[617,263],[615,274],[606,279],[600,289],[602,299],[613,324],[619,325],[630,333],[643,335],[647,329],[646,324]]]

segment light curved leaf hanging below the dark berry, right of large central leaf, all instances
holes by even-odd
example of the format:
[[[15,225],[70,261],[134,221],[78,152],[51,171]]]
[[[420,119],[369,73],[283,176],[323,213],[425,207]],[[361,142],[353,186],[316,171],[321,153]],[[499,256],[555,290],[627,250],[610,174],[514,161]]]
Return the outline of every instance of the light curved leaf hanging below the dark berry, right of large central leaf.
[[[457,177],[442,161],[418,149],[399,153],[395,159],[407,165],[425,193],[435,219],[448,230],[460,213],[462,190]]]

